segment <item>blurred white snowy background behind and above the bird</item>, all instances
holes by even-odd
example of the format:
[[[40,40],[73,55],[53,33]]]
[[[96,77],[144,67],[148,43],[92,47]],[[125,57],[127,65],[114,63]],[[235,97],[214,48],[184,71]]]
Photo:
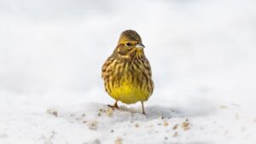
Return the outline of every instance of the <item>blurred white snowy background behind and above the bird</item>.
[[[254,0],[0,0],[1,103],[113,102],[103,88],[102,64],[119,34],[133,29],[153,69],[149,104],[253,106],[255,5]]]

